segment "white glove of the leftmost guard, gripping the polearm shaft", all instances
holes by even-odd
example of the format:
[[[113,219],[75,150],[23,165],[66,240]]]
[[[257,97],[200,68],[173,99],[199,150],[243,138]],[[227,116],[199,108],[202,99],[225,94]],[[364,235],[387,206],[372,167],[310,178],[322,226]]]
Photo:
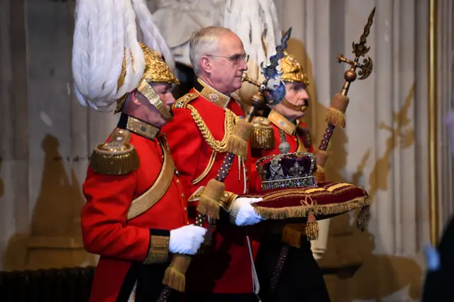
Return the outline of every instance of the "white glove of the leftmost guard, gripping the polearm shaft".
[[[204,242],[206,228],[196,225],[184,225],[170,231],[169,252],[195,255]]]

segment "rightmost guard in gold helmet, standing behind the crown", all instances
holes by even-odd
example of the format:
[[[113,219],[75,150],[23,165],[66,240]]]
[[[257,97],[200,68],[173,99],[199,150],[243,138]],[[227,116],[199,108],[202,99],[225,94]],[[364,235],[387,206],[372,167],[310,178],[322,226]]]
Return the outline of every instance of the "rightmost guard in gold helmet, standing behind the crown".
[[[256,117],[253,121],[251,170],[255,191],[260,191],[261,185],[260,178],[255,173],[255,162],[260,158],[293,152],[314,153],[309,129],[302,121],[309,106],[309,95],[306,92],[309,78],[295,57],[287,52],[281,59],[281,70],[281,79],[286,89],[284,101],[273,106],[267,118]],[[267,230],[267,234],[260,240],[255,267],[261,285],[259,295],[262,301],[330,301],[305,228],[305,223],[287,224],[283,229],[277,228],[277,232]],[[292,247],[278,283],[272,285],[279,254],[286,244]]]

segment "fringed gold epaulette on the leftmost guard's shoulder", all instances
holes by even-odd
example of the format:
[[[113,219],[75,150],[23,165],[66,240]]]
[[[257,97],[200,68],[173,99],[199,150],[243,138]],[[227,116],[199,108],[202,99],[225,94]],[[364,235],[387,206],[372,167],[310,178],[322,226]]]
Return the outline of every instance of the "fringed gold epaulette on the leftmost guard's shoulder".
[[[129,144],[131,133],[115,129],[108,142],[96,146],[92,152],[90,166],[93,171],[107,175],[125,175],[139,167],[139,157],[133,145]]]

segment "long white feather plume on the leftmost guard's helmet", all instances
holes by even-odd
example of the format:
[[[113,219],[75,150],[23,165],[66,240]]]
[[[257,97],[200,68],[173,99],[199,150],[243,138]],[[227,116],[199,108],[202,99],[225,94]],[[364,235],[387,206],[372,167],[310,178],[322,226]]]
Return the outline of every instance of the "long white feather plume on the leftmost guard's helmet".
[[[140,84],[145,58],[138,43],[136,19],[145,45],[160,52],[167,65],[175,67],[172,52],[145,0],[77,0],[74,18],[74,93],[84,106],[109,108]],[[118,87],[125,54],[126,74]]]

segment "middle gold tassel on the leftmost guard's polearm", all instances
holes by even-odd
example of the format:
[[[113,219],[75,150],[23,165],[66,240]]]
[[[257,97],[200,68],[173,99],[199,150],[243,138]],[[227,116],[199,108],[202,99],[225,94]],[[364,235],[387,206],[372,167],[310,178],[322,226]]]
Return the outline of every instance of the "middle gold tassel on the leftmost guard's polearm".
[[[225,189],[226,185],[223,182],[210,179],[205,186],[204,193],[199,197],[197,211],[210,218],[219,219],[219,203]]]

